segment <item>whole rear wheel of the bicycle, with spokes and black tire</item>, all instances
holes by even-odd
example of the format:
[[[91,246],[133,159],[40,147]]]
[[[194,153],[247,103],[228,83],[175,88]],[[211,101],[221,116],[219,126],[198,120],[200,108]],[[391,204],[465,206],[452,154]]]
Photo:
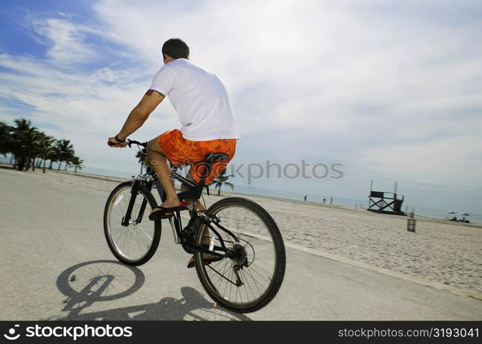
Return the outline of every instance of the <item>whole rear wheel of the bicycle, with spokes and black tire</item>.
[[[206,215],[219,217],[219,224],[238,241],[211,224],[226,248],[234,253],[231,258],[211,264],[205,264],[201,252],[195,253],[202,286],[228,310],[247,313],[263,308],[274,298],[285,275],[285,246],[276,222],[259,204],[241,197],[228,197],[212,204]],[[217,235],[201,224],[196,244],[206,242],[206,237],[214,239],[214,252],[223,253]]]

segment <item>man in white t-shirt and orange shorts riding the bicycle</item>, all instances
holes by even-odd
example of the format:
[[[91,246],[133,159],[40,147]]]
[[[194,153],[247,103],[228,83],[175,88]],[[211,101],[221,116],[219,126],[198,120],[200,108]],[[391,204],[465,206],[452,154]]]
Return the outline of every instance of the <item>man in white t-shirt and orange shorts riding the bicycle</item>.
[[[169,39],[162,45],[164,66],[154,76],[149,90],[129,114],[121,131],[109,138],[111,147],[127,146],[127,137],[139,129],[166,96],[177,111],[182,128],[166,131],[149,141],[147,157],[164,188],[166,200],[152,213],[160,217],[181,206],[170,177],[168,160],[177,166],[190,164],[188,178],[199,182],[202,160],[208,153],[226,153],[228,159],[212,164],[206,184],[226,168],[236,151],[239,131],[232,114],[228,92],[212,72],[189,61],[189,47],[181,39]],[[182,185],[185,191],[187,186]],[[193,204],[193,200],[185,200]],[[199,210],[204,204],[197,203]],[[151,213],[151,214],[152,214]],[[191,264],[192,265],[192,264]]]

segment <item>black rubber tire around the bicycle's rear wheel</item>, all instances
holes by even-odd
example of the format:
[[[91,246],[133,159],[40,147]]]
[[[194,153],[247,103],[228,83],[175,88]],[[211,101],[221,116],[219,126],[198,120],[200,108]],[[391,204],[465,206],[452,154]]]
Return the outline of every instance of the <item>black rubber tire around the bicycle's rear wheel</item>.
[[[272,277],[270,277],[271,281],[269,286],[267,286],[263,294],[261,294],[260,297],[258,297],[257,299],[253,299],[252,301],[247,301],[245,303],[233,302],[230,299],[232,298],[232,294],[231,294],[231,297],[226,297],[226,295],[222,295],[221,291],[219,290],[221,288],[215,286],[215,283],[212,281],[213,278],[211,278],[208,274],[207,268],[211,270],[215,270],[215,268],[212,268],[212,265],[218,264],[219,266],[222,266],[221,265],[222,261],[219,263],[218,262],[212,263],[208,266],[207,264],[204,263],[204,260],[201,258],[202,257],[201,252],[196,252],[195,253],[196,271],[199,277],[199,281],[201,281],[201,285],[203,286],[204,290],[206,290],[206,292],[208,292],[210,297],[214,301],[216,301],[219,305],[221,305],[223,308],[232,310],[234,312],[241,312],[241,313],[254,312],[256,310],[263,308],[265,305],[267,305],[267,303],[270,303],[270,301],[272,301],[272,299],[276,296],[276,293],[278,292],[279,288],[281,287],[281,283],[283,282],[283,277],[285,275],[285,266],[286,266],[285,246],[283,244],[283,237],[281,236],[281,233],[278,229],[278,226],[276,225],[276,222],[274,222],[274,219],[271,217],[269,213],[267,213],[267,211],[265,211],[263,207],[261,207],[259,204],[256,204],[255,202],[252,202],[251,200],[248,200],[242,197],[228,197],[223,200],[219,200],[215,204],[212,204],[210,208],[208,208],[206,215],[212,217],[228,208],[232,208],[233,209],[232,212],[235,212],[234,208],[244,208],[254,213],[254,215],[256,215],[261,220],[261,222],[266,226],[267,230],[269,231],[270,237],[265,237],[265,239],[261,239],[261,237],[252,237],[252,239],[250,239],[252,241],[251,244],[248,241],[246,241],[251,246],[251,248],[253,248],[252,244],[254,243],[254,241],[261,242],[262,240],[268,239],[267,242],[269,242],[269,239],[272,240],[271,242],[274,246],[274,269],[273,269],[274,271],[272,272]],[[228,219],[228,221],[229,220],[230,219]],[[221,218],[220,224],[223,224],[223,218]],[[201,224],[201,226],[199,227],[199,230],[197,231],[195,242],[198,245],[201,244],[203,240],[205,228],[206,228],[206,225]],[[239,234],[239,237],[241,237],[241,235],[243,234]],[[248,235],[248,237],[250,237],[250,235]],[[261,245],[268,246],[268,247],[270,246],[270,245],[267,245],[265,242],[263,242]],[[254,252],[254,248],[253,248],[253,252]],[[254,252],[254,255],[255,254],[256,252]],[[226,259],[223,259],[223,261],[226,261]],[[232,260],[230,259],[228,263],[231,263],[232,265]],[[225,265],[227,265],[228,263],[226,263]],[[221,268],[219,268],[219,270],[221,270]],[[217,274],[219,275],[219,272]],[[254,279],[252,273],[249,272],[249,274]],[[217,277],[217,275],[213,275],[213,276]],[[248,273],[246,273],[245,276],[249,277]],[[245,277],[245,279],[247,280],[248,277]],[[230,293],[231,293],[231,290],[230,290]],[[248,297],[247,291],[246,291],[246,296]]]

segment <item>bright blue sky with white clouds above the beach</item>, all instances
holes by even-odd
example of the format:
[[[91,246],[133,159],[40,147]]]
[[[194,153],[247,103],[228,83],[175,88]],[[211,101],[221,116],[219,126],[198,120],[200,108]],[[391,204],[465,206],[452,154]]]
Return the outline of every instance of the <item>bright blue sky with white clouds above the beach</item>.
[[[481,1],[3,0],[0,32],[0,120],[71,140],[87,167],[138,170],[107,138],[179,37],[228,89],[235,165],[342,165],[251,186],[365,200],[373,179],[410,206],[482,213]],[[131,138],[179,127],[164,100]]]

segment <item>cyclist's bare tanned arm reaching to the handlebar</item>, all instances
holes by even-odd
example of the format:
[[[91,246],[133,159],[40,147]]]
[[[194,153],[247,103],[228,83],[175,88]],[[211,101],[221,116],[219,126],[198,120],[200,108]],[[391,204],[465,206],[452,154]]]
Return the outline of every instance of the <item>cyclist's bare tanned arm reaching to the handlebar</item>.
[[[120,140],[126,140],[131,133],[142,127],[144,122],[149,118],[149,115],[152,111],[155,110],[157,105],[164,100],[164,95],[160,92],[154,91],[153,89],[149,89],[149,91],[144,94],[140,103],[134,107],[127,117],[126,122],[124,123],[124,127],[120,130],[117,137]],[[116,138],[109,138],[110,142],[113,142],[113,146],[111,147],[126,147],[127,143],[120,143]]]

